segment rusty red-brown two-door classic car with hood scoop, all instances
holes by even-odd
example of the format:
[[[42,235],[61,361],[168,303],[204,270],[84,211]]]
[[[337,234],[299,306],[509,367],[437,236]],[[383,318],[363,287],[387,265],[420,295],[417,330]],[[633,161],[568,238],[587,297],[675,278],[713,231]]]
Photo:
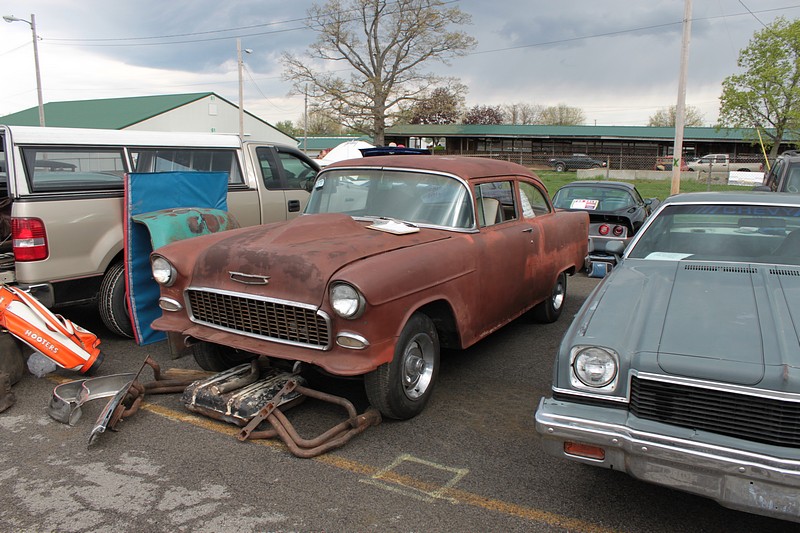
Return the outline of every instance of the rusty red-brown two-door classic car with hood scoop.
[[[383,416],[407,419],[431,396],[440,346],[466,348],[527,311],[558,319],[588,225],[515,163],[342,161],[295,220],[157,250],[153,328],[198,343],[209,370],[265,356],[363,376]]]

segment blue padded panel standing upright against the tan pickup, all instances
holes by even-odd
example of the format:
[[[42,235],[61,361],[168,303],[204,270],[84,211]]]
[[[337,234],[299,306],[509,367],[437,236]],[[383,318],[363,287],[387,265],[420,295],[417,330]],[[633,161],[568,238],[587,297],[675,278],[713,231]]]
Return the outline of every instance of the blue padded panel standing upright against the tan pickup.
[[[161,316],[158,284],[150,271],[152,244],[147,227],[135,215],[176,207],[211,207],[227,211],[226,172],[131,173],[125,181],[125,285],[136,343],[164,340],[150,324]]]

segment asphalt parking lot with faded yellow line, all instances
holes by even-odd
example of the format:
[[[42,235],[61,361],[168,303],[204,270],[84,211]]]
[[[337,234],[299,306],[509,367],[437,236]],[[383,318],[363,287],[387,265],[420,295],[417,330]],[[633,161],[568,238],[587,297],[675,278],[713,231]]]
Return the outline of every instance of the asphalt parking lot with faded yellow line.
[[[239,442],[238,428],[190,413],[180,394],[147,395],[118,431],[87,446],[105,401],[63,425],[45,408],[55,385],[78,376],[28,375],[0,414],[0,531],[795,531],[543,454],[533,413],[560,337],[596,283],[569,278],[555,324],[518,320],[446,352],[422,415],[384,421],[314,459],[279,442]],[[101,336],[100,374],[135,371],[147,355],[164,368],[196,368],[163,344],[113,337],[91,309],[64,314]],[[315,386],[367,407],[357,381]],[[342,416],[316,400],[289,411],[304,436]]]

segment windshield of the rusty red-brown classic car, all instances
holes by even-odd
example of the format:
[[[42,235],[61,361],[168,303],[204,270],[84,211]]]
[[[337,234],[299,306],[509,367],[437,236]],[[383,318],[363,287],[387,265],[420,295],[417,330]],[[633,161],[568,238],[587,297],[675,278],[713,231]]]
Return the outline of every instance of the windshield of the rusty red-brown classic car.
[[[359,168],[323,172],[314,184],[305,212],[386,217],[458,229],[475,224],[472,201],[463,182],[413,170]]]

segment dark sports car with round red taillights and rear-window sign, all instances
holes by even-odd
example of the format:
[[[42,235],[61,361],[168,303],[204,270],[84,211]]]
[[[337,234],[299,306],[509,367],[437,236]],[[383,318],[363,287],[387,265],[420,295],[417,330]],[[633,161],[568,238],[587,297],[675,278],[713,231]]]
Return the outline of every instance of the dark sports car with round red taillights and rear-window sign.
[[[643,199],[633,184],[620,181],[573,181],[553,195],[556,209],[589,213],[589,250],[585,266],[590,271],[592,263],[597,261],[616,264],[619,252],[610,252],[608,245],[627,246],[659,203],[658,198]]]

